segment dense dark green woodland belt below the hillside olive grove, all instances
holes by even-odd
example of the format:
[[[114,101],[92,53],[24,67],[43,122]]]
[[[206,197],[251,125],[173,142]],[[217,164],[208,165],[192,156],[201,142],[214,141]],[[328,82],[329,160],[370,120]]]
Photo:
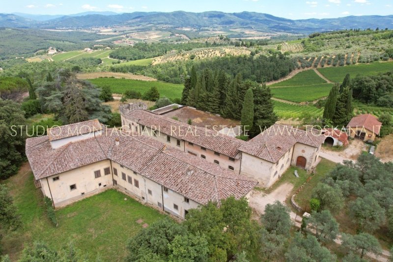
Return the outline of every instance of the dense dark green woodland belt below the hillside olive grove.
[[[154,66],[112,66],[112,72],[134,73],[157,78],[158,80],[180,84],[187,75],[191,74],[191,68],[195,65],[198,72],[205,68],[220,68],[231,77],[238,73],[245,80],[258,83],[278,80],[287,76],[297,68],[295,59],[283,55],[266,56],[225,56],[199,61],[176,61],[157,64]]]

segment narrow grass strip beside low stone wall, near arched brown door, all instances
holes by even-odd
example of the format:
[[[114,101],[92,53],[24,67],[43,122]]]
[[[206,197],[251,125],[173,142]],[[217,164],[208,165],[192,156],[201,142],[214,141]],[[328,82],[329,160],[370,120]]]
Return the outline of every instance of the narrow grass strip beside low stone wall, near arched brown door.
[[[329,172],[336,167],[336,165],[336,163],[322,158],[321,162],[319,162],[317,165],[312,178],[296,195],[296,203],[300,204],[301,206],[306,206],[306,209],[309,212],[309,202],[311,199],[312,189],[316,186],[317,183],[319,183],[319,181],[321,181],[321,179],[325,178]]]

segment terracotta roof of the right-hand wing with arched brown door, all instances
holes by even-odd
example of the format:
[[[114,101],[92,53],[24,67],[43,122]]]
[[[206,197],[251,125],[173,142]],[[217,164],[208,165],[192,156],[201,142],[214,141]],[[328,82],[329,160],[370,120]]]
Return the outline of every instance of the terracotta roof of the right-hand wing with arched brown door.
[[[296,143],[319,147],[324,139],[324,136],[315,136],[310,131],[274,124],[241,146],[239,150],[276,163]]]

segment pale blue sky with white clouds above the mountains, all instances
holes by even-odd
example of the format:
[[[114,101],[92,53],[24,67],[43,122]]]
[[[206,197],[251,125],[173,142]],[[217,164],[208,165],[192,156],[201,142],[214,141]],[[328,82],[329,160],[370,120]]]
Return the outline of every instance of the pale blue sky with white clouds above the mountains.
[[[289,19],[393,14],[392,0],[17,0],[0,13],[75,14],[85,11],[254,11]]]

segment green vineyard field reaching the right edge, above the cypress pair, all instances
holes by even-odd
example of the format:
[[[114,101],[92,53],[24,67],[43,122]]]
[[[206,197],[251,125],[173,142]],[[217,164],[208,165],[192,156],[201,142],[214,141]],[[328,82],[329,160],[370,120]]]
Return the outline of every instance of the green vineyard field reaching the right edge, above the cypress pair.
[[[333,82],[342,82],[346,74],[351,78],[356,75],[375,76],[393,70],[393,62],[375,62],[371,64],[325,67],[317,69],[322,75]]]

